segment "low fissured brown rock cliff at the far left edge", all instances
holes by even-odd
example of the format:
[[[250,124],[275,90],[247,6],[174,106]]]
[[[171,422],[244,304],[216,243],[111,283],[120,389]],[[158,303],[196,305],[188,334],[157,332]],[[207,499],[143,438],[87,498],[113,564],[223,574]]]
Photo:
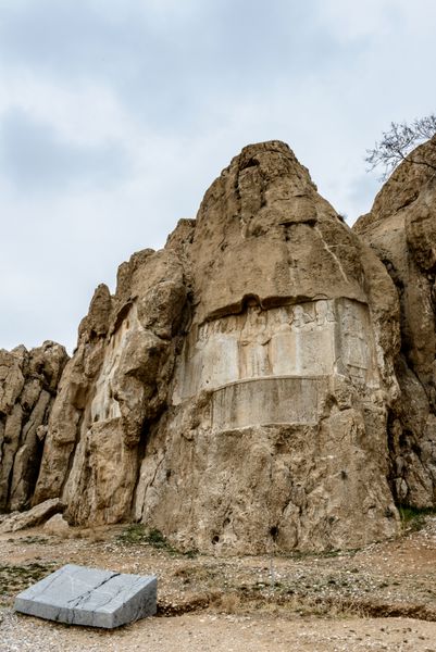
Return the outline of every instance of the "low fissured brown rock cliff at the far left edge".
[[[50,341],[0,350],[0,511],[29,506],[66,361],[65,349]]]

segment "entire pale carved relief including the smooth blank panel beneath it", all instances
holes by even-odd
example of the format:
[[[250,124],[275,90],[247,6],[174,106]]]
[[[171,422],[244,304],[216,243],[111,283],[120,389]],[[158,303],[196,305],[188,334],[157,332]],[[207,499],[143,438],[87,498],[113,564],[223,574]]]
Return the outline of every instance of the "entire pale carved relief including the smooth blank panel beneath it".
[[[311,424],[320,418],[321,397],[319,384],[310,379],[333,374],[349,376],[353,384],[378,383],[366,305],[348,299],[267,311],[249,305],[244,314],[192,329],[173,403],[213,390],[214,428]]]

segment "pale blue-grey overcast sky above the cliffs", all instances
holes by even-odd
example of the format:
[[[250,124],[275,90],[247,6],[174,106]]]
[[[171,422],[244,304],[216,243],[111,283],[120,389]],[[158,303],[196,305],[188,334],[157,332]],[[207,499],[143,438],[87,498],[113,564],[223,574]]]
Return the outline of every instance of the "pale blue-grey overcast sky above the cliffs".
[[[436,110],[434,0],[0,0],[0,348],[75,346],[94,288],[281,139],[351,224],[365,150]]]

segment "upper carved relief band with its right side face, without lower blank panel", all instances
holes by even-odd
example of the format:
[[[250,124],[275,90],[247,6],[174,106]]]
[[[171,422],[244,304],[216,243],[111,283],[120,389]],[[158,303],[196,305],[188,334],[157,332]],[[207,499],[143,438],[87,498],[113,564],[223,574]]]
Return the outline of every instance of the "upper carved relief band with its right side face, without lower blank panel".
[[[189,334],[173,403],[245,379],[349,374],[368,380],[374,343],[366,305],[320,300],[207,322]]]

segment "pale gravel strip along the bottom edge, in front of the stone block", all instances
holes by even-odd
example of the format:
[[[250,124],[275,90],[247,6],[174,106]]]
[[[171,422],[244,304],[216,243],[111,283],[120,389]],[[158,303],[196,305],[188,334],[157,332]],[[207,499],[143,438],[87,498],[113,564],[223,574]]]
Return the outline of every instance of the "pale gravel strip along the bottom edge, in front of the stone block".
[[[116,631],[65,627],[3,615],[3,652],[436,652],[436,625],[408,618],[285,619],[210,613],[149,618]]]

